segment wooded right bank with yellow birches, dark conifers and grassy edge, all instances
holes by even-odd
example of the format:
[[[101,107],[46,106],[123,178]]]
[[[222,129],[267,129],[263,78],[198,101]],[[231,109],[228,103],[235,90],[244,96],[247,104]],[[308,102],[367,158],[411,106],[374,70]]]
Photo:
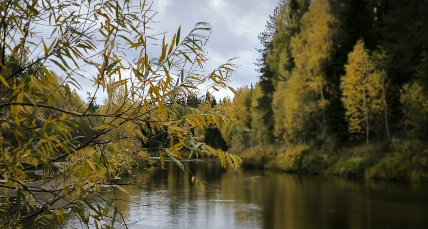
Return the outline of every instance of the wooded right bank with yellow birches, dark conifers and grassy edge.
[[[426,180],[426,1],[281,1],[223,132],[246,166]]]

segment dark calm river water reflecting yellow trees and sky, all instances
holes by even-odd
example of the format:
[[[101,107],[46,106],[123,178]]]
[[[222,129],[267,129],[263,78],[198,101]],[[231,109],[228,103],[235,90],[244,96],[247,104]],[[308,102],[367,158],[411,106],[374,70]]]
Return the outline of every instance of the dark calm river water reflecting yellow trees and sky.
[[[426,184],[223,169],[217,160],[185,165],[204,190],[169,162],[136,175],[146,182],[126,186],[129,194],[115,190],[128,227],[428,228]],[[65,221],[80,227],[72,213]]]

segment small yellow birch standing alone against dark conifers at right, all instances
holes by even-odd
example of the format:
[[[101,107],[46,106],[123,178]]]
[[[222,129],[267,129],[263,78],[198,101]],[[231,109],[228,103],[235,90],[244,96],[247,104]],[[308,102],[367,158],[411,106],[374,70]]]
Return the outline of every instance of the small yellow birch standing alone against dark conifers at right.
[[[361,133],[364,130],[367,145],[370,122],[373,122],[383,110],[386,114],[386,73],[376,69],[362,40],[357,42],[354,51],[349,54],[345,70],[346,74],[342,77],[340,88],[349,131]]]

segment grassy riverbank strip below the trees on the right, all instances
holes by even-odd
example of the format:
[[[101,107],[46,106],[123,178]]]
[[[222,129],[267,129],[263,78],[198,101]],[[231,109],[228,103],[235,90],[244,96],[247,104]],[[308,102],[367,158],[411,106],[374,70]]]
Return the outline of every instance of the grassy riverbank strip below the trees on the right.
[[[336,148],[334,142],[315,146],[263,145],[233,149],[243,166],[301,174],[325,174],[384,180],[428,181],[428,144],[392,139]]]

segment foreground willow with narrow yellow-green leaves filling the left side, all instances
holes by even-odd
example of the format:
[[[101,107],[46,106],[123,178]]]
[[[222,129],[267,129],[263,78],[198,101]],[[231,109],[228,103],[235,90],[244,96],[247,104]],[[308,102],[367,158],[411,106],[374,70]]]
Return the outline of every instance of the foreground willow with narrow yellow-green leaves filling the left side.
[[[212,79],[208,89],[228,88],[235,68],[230,61],[206,76],[199,71],[207,60],[209,24],[197,23],[184,38],[178,28],[168,42],[166,35],[151,34],[154,13],[146,4],[9,0],[1,8],[0,173],[5,183],[0,188],[8,196],[0,211],[10,212],[10,217],[0,219],[2,225],[19,227],[34,219],[37,227],[44,218],[62,224],[64,209],[71,207],[86,226],[114,226],[120,215],[117,199],[103,200],[96,192],[121,169],[149,155],[160,154],[162,164],[170,157],[185,169],[178,161],[180,150],[191,149],[218,156],[223,166],[226,160],[239,166],[238,157],[196,144],[199,138],[192,131],[211,124],[225,127],[230,122],[227,116],[196,108],[178,116],[170,109],[181,106],[170,101],[172,95],[195,95],[189,88],[197,91],[207,80]],[[159,53],[150,56],[148,49]],[[129,50],[138,53],[136,59],[127,58]],[[48,70],[52,66],[63,75],[60,82]],[[60,106],[59,101],[68,103],[72,98],[67,84],[82,91],[83,79],[95,88],[88,106],[81,99]],[[108,97],[91,112],[90,104],[94,108],[100,91]],[[82,126],[91,130],[84,141]],[[166,133],[167,139],[155,149],[142,148],[141,142],[153,140],[142,130]],[[40,187],[33,187],[25,173],[36,167],[43,169]],[[44,200],[40,195],[50,197]],[[21,214],[28,209],[33,210]]]

